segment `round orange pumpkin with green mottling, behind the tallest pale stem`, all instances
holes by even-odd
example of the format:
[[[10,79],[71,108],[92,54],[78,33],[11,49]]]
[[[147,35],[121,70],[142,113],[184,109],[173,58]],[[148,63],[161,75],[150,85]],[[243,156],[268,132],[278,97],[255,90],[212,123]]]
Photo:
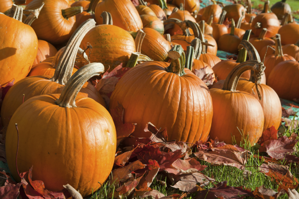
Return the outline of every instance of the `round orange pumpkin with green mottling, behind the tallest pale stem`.
[[[120,63],[125,66],[131,53],[136,52],[136,47],[131,34],[112,25],[111,18],[108,24],[105,23],[92,28],[83,38],[80,48],[91,45],[93,49],[86,50],[87,54],[90,52],[90,62],[102,63],[107,71],[109,67],[113,70]]]

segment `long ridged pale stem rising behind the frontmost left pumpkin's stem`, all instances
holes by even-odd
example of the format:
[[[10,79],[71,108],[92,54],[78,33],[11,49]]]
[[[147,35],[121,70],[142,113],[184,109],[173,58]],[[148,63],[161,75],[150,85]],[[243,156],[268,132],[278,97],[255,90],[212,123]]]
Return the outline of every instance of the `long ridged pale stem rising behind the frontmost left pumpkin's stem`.
[[[71,38],[68,40],[63,55],[59,59],[54,76],[50,79],[50,81],[61,85],[66,84],[68,79],[71,77],[79,45],[86,33],[95,27],[95,23],[94,19],[88,19],[72,34]]]

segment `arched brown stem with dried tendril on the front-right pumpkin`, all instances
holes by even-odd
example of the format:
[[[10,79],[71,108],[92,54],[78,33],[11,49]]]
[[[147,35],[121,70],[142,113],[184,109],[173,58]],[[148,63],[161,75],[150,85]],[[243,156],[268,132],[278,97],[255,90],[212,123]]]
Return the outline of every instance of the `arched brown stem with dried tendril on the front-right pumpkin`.
[[[248,71],[248,70],[252,70],[255,72],[255,74],[257,74],[255,83],[260,84],[258,82],[260,81],[261,75],[263,74],[263,71],[265,70],[265,68],[266,67],[263,65],[263,63],[258,62],[257,60],[249,60],[249,61],[240,63],[228,74],[227,78],[225,79],[222,90],[236,92],[236,87],[237,87],[240,76],[245,71]],[[261,100],[260,91],[258,90],[257,85],[256,85],[256,88],[257,88],[257,93],[258,93],[259,99]]]

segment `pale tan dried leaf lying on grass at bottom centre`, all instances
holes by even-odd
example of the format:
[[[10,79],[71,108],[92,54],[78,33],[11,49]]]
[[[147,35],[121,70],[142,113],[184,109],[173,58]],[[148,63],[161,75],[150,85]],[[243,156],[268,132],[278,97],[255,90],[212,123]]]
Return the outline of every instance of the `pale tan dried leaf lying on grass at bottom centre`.
[[[184,174],[174,178],[177,182],[172,187],[180,189],[183,192],[195,192],[197,190],[196,184],[200,186],[206,186],[210,183],[210,180],[214,180],[210,177],[205,176],[202,173]]]

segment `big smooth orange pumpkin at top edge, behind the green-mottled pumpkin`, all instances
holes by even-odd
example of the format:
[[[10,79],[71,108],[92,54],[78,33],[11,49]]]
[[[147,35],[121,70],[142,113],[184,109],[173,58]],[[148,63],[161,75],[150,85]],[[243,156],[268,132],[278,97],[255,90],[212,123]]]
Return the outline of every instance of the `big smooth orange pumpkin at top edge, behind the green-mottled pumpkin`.
[[[114,26],[133,32],[143,28],[140,16],[130,0],[103,0],[99,2],[94,10],[97,22],[103,21],[101,18],[103,11],[111,13],[112,19],[117,19],[114,21]]]

